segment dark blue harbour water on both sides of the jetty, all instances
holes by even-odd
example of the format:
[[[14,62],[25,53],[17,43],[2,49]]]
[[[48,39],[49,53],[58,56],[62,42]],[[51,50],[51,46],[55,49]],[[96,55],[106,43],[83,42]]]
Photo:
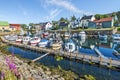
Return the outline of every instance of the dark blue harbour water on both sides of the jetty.
[[[113,49],[112,47],[110,47],[113,46],[112,43],[107,42],[102,44],[100,43],[100,41],[98,42],[97,40],[96,41],[91,40],[90,42],[89,41],[90,40],[85,40],[85,42],[83,42],[82,44],[80,41],[76,41],[76,42],[80,42],[79,46],[82,46],[79,48],[78,51],[83,54],[97,56],[94,50],[89,48],[89,46],[92,44],[92,45],[96,45],[96,47],[98,47],[98,49],[102,52],[103,55],[107,57],[112,57],[114,59],[119,59],[119,57],[116,57],[112,54]],[[28,59],[35,59],[38,56],[43,55],[36,51],[21,49],[14,46],[10,46],[8,48],[8,51],[14,52],[14,54],[18,54],[21,57]],[[56,61],[56,59],[52,55],[42,58],[41,60],[39,60],[39,62],[49,67],[58,67],[58,65],[60,65],[63,69],[71,70],[79,75],[91,74],[95,76],[97,80],[120,80],[120,72],[118,71],[104,69],[97,66],[91,66],[89,64],[85,64],[85,63],[83,64],[81,62],[76,62],[74,60],[68,60],[68,59]]]

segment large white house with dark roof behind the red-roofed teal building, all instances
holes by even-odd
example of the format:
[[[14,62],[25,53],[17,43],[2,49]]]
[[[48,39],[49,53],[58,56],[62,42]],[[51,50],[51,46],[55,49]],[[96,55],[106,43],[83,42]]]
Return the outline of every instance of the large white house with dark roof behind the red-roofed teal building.
[[[88,24],[90,21],[94,21],[95,20],[95,16],[94,15],[90,15],[90,16],[83,16],[80,20],[80,26],[81,27],[88,27]]]

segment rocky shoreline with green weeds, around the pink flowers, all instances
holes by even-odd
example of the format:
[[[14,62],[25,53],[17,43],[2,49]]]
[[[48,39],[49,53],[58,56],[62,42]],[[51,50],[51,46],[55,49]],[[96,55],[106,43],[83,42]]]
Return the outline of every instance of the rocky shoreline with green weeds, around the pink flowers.
[[[95,80],[91,75],[78,76],[74,72],[63,70],[60,66],[57,68],[49,68],[38,62],[32,63],[28,59],[21,58],[19,55],[11,55],[6,51],[6,45],[0,46],[0,72],[6,70],[13,74],[13,71],[9,70],[6,66],[6,57],[14,62],[19,73],[20,78],[14,78],[11,80]],[[10,79],[1,79],[10,80]]]

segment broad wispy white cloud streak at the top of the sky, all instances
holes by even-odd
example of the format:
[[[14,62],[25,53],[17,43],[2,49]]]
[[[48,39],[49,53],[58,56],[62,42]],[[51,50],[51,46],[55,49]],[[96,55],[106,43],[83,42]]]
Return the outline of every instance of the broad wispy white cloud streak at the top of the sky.
[[[79,14],[86,14],[86,15],[92,14],[91,12],[86,12],[86,11],[80,10],[74,4],[72,4],[70,1],[67,1],[67,0],[45,0],[45,2],[47,4],[63,7],[67,10],[70,10],[71,12],[75,12],[75,13],[79,13]]]

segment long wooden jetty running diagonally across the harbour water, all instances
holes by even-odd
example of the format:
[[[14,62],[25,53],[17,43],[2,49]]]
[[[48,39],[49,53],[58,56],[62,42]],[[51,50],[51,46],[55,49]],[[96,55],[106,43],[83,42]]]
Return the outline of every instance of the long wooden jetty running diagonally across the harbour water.
[[[26,49],[30,49],[30,50],[34,50],[34,51],[39,51],[39,52],[42,51],[42,52],[46,52],[49,54],[60,55],[60,56],[66,57],[66,58],[82,60],[85,62],[93,62],[93,63],[100,64],[103,66],[116,67],[116,68],[120,69],[120,61],[119,60],[112,60],[111,58],[106,59],[106,58],[87,55],[87,54],[80,54],[78,52],[69,53],[69,52],[64,52],[61,50],[53,50],[53,49],[40,48],[40,47],[36,47],[36,46],[31,46],[31,45],[24,45],[21,43],[10,42],[8,40],[5,40],[4,37],[1,37],[1,40],[6,44],[14,45],[14,46],[21,47],[21,48],[26,48]],[[40,59],[40,58],[41,57],[34,59],[33,62]]]

